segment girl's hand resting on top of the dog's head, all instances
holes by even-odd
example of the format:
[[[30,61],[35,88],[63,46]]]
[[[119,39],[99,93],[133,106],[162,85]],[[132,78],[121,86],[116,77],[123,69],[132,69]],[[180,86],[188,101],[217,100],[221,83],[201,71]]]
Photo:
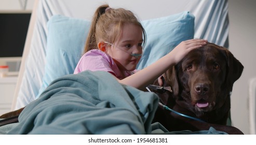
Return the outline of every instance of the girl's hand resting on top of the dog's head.
[[[193,49],[203,47],[207,44],[207,40],[204,39],[190,39],[182,41],[177,47],[175,47],[170,53],[174,56],[174,63],[180,62],[183,57]]]

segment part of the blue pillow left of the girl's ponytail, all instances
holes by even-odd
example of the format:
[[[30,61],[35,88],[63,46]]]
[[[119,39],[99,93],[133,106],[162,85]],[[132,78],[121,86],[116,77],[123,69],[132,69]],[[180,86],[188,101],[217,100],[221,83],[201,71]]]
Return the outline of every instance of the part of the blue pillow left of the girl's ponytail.
[[[39,95],[55,79],[73,74],[84,51],[90,21],[52,16],[47,22],[46,65]]]

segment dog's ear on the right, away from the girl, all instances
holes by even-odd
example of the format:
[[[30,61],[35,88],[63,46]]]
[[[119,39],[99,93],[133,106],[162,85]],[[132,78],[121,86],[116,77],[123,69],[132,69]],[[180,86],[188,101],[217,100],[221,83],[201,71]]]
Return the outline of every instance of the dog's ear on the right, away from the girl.
[[[242,74],[244,66],[234,57],[234,55],[228,51],[226,48],[221,47],[225,51],[226,61],[227,61],[227,76],[226,76],[226,86],[228,90],[232,91],[233,84],[238,80]]]

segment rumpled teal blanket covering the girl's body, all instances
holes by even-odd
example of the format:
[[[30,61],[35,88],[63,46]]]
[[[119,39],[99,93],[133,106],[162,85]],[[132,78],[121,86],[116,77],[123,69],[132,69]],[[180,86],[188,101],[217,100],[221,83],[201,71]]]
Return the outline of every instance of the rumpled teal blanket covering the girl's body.
[[[109,72],[84,71],[53,81],[8,134],[151,134],[157,104]]]

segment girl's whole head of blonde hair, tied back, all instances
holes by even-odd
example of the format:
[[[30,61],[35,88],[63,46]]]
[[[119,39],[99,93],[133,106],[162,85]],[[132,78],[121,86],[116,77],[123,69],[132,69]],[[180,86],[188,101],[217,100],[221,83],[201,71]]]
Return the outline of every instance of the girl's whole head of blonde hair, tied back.
[[[93,16],[84,53],[92,49],[98,49],[97,45],[99,41],[115,42],[122,35],[123,26],[127,23],[141,27],[143,33],[142,47],[144,47],[146,33],[136,16],[131,11],[123,8],[113,9],[109,5],[102,5],[96,10]]]

